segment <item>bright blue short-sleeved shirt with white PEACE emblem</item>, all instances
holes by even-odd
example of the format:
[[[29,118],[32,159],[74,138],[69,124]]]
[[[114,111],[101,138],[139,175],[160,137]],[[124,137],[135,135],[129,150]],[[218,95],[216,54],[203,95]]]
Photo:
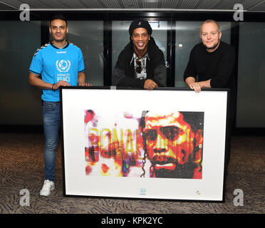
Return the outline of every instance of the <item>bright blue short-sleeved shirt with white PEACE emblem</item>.
[[[71,86],[77,86],[78,73],[85,71],[82,51],[73,43],[67,43],[63,48],[46,43],[34,53],[29,71],[41,76],[47,83],[66,81]],[[59,90],[43,89],[41,99],[58,102]]]

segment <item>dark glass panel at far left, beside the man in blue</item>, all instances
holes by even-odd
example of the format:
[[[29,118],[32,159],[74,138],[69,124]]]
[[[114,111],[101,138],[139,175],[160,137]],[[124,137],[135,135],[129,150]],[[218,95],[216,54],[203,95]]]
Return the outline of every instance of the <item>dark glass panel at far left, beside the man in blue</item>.
[[[41,124],[41,90],[28,83],[33,53],[41,46],[40,21],[0,21],[0,124]]]

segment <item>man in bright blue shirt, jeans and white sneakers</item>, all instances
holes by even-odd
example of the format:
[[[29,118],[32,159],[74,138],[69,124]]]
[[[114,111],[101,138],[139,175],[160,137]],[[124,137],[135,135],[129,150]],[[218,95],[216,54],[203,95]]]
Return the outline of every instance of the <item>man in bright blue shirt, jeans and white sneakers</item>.
[[[77,46],[66,41],[67,21],[56,15],[50,21],[52,41],[38,48],[29,68],[28,81],[43,93],[43,129],[46,138],[44,150],[45,174],[42,196],[55,188],[55,161],[60,129],[60,86],[91,86],[85,83],[83,54]],[[40,77],[41,76],[41,77]]]

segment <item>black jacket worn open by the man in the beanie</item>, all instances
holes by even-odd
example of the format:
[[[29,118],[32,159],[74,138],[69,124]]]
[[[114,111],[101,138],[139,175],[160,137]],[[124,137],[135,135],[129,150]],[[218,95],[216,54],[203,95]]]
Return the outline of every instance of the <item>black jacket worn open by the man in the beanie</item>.
[[[159,87],[167,85],[165,57],[160,48],[156,45],[154,38],[150,38],[147,46],[147,78],[145,80],[141,80],[135,76],[133,53],[132,42],[128,43],[123,51],[120,52],[113,71],[113,86],[144,88],[145,80],[147,79],[155,81]]]

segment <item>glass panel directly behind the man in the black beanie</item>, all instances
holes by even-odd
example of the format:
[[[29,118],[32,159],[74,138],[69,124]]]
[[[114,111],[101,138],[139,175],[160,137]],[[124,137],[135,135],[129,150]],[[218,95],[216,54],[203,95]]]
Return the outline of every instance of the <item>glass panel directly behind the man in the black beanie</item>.
[[[120,51],[130,42],[129,27],[132,21],[113,21],[113,54],[112,71],[118,60]],[[167,60],[167,21],[148,21],[152,28],[152,37],[157,46],[162,50]]]

